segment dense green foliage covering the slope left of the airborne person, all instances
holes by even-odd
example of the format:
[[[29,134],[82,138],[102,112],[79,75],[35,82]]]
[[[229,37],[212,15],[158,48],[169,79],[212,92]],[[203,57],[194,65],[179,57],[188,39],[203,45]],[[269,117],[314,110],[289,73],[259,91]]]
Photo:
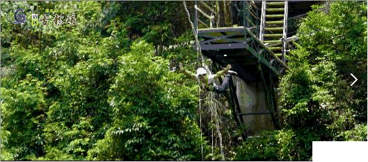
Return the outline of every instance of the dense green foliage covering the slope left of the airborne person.
[[[15,73],[2,80],[1,159],[200,159],[205,138],[195,123],[195,84],[169,72],[169,60],[141,41],[163,46],[152,40],[170,30],[180,34],[169,19],[161,22],[180,16],[166,3],[141,8],[159,8],[149,15],[127,15],[126,6],[140,3],[2,2],[1,43],[9,44],[3,66],[14,66]],[[38,14],[67,8],[63,13],[75,12],[78,25],[8,23],[14,9],[26,8],[29,16],[31,6]],[[162,8],[171,15],[157,12]],[[141,22],[147,22],[138,29],[142,35],[131,37]]]

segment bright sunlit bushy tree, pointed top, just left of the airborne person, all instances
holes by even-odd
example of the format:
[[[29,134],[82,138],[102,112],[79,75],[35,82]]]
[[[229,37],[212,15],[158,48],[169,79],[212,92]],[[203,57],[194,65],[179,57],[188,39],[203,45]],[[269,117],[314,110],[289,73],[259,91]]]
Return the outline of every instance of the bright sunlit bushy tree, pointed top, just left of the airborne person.
[[[113,127],[88,151],[88,158],[175,160],[198,156],[199,150],[193,147],[203,141],[194,121],[186,117],[195,107],[195,97],[189,91],[194,89],[177,86],[180,75],[169,72],[167,60],[154,56],[151,44],[135,42],[130,53],[118,60],[121,65],[109,97]]]

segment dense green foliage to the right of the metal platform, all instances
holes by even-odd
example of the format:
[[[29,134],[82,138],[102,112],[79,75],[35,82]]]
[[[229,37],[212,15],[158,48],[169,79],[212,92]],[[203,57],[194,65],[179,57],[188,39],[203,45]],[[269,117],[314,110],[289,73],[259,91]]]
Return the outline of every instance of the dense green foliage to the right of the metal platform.
[[[326,6],[299,25],[279,85],[282,130],[247,140],[237,159],[306,161],[312,141],[367,141],[367,3]]]

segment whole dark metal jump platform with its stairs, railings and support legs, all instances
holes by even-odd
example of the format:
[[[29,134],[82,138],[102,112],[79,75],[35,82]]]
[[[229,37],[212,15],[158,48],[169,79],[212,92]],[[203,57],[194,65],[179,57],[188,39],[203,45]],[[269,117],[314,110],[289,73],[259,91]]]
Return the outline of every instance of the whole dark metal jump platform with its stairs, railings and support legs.
[[[285,53],[289,47],[287,43],[287,1],[263,1],[262,8],[258,8],[255,1],[235,3],[235,8],[232,10],[239,12],[242,19],[241,23],[237,24],[239,26],[232,26],[229,23],[230,17],[225,16],[229,15],[225,13],[230,12],[227,9],[231,9],[228,8],[232,7],[231,3],[195,1],[194,4],[194,30],[201,39],[199,46],[195,46],[195,49],[200,49],[203,55],[216,64],[234,65],[233,69],[239,73],[237,77],[240,80],[247,80],[250,73],[257,76],[255,77],[259,79],[257,82],[263,83],[269,110],[242,113],[237,87],[234,87],[234,82],[231,81],[227,100],[233,109],[237,124],[244,123],[243,116],[270,114],[274,127],[278,129],[274,79],[289,69],[285,59]],[[262,11],[261,17],[258,15],[259,10]]]

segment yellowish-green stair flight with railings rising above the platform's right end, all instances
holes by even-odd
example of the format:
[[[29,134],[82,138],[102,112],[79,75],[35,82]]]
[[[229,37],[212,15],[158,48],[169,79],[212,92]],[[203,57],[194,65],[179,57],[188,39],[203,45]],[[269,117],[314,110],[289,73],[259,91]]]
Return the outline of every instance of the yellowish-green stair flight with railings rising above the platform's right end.
[[[261,40],[280,60],[285,61],[287,50],[287,1],[262,1]],[[283,38],[283,39],[282,39]]]

